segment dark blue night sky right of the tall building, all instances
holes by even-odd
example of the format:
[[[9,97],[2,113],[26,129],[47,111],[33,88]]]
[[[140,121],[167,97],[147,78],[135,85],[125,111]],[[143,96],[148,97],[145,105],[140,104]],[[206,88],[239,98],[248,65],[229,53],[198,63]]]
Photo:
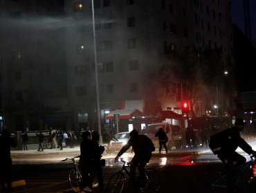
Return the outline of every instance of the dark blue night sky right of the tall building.
[[[253,42],[256,43],[256,1],[249,0],[250,4],[250,28]],[[244,0],[232,0],[233,23],[245,33],[244,26]]]

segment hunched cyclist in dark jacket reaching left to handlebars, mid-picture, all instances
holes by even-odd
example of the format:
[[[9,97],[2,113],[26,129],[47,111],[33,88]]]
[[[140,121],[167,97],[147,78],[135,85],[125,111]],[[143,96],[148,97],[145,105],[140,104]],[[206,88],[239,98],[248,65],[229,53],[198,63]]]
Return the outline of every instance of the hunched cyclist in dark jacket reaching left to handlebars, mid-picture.
[[[137,130],[132,130],[130,132],[130,139],[126,145],[122,147],[122,149],[118,152],[115,161],[122,156],[130,147],[132,147],[134,151],[134,157],[131,159],[130,165],[130,181],[134,183],[135,181],[135,172],[136,167],[138,167],[139,171],[139,179],[145,182],[145,170],[144,167],[152,157],[152,152],[154,152],[155,147],[154,143],[144,134],[138,134]]]

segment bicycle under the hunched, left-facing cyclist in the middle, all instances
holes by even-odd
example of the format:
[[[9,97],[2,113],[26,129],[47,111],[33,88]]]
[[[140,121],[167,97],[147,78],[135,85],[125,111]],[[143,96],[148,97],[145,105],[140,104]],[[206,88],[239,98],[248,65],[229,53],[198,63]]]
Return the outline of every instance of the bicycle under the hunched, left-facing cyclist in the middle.
[[[109,193],[121,193],[125,187],[125,181],[127,176],[130,177],[129,164],[122,159],[118,160],[122,162],[121,169],[112,174],[108,183],[107,183],[107,192]],[[138,179],[138,185],[132,185],[133,192],[135,190],[139,192],[160,192],[161,178],[158,174],[158,171],[153,167],[145,168],[146,181],[142,182],[141,179]],[[128,191],[130,192],[130,190]]]

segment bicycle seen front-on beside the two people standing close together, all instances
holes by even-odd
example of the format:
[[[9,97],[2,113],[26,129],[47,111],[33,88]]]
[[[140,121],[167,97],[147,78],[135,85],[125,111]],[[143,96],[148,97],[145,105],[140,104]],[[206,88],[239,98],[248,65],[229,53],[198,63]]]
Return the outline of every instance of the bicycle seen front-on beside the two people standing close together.
[[[73,158],[66,158],[62,161],[72,161],[73,162],[73,168],[69,170],[68,173],[68,181],[69,184],[71,185],[71,189],[74,192],[79,191],[79,185],[82,180],[82,174],[79,170],[78,163],[75,161],[76,158],[79,158],[80,156],[75,156]]]

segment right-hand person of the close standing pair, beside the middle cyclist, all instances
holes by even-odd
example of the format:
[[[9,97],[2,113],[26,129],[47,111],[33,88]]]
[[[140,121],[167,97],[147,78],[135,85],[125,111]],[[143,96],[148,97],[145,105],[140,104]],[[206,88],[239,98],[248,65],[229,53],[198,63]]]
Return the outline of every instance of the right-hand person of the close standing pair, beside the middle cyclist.
[[[92,133],[92,141],[93,141],[93,154],[94,154],[94,167],[97,174],[98,184],[100,187],[100,192],[104,191],[104,183],[103,183],[103,176],[102,176],[102,162],[101,157],[102,153],[104,152],[104,147],[99,145],[100,142],[100,134],[98,132]]]

